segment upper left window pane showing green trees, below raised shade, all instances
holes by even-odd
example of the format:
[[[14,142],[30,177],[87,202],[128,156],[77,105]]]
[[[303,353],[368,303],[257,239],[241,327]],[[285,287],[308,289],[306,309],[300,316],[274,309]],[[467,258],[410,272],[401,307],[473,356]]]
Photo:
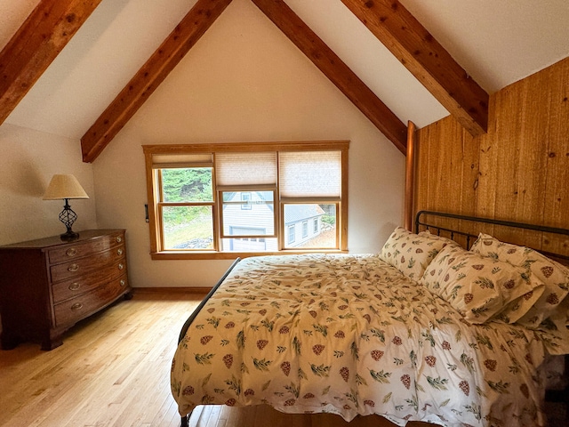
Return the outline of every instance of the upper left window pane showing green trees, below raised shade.
[[[212,202],[212,168],[161,169],[164,202]]]

